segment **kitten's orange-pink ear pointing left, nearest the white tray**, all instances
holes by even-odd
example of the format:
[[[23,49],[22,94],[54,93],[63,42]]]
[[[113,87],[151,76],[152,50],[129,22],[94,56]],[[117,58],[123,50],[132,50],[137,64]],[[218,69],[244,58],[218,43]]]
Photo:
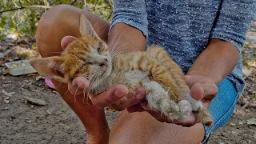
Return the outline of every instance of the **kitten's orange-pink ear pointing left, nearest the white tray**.
[[[33,66],[34,70],[37,70],[39,74],[67,83],[69,80],[64,76],[63,63],[64,60],[58,56],[38,58],[30,61],[31,66]]]

